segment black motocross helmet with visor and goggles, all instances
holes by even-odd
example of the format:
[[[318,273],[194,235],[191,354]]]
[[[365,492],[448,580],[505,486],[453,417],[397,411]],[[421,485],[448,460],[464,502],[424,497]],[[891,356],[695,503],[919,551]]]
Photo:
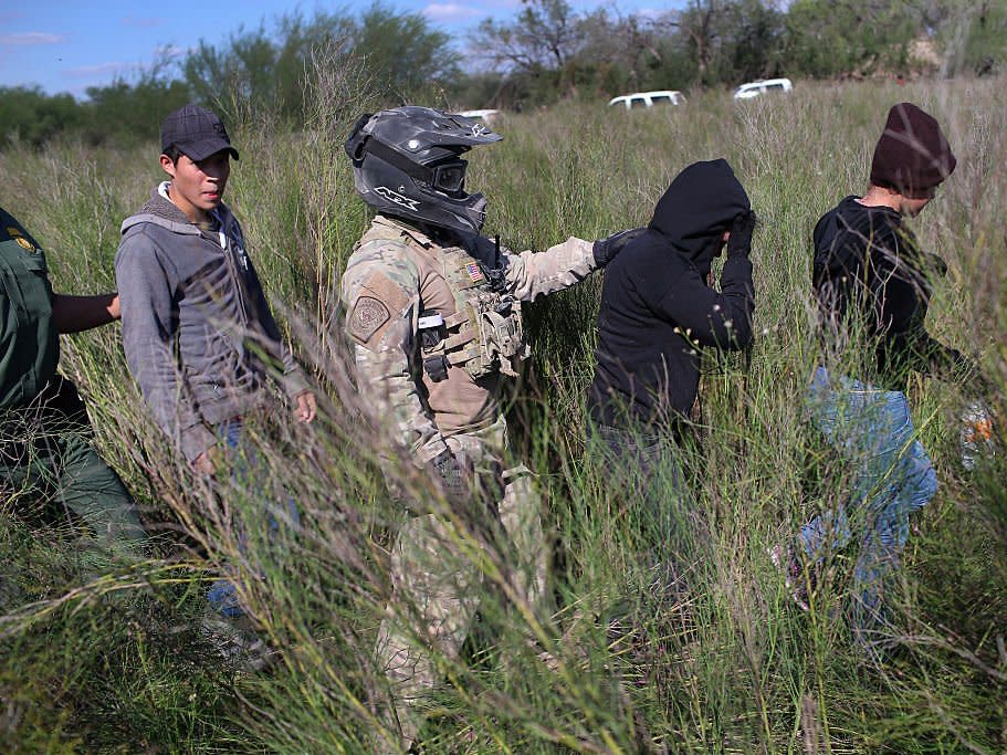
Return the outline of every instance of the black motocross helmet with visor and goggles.
[[[357,119],[344,148],[364,201],[434,228],[479,233],[486,199],[465,193],[461,156],[503,137],[484,123],[430,107],[396,107]]]

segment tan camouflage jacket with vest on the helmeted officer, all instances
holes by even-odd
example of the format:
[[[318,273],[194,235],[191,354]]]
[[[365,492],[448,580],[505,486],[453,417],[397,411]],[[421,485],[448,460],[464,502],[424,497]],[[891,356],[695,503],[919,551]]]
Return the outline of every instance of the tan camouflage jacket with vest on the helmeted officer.
[[[527,356],[521,302],[595,269],[591,242],[575,238],[520,254],[485,237],[459,243],[377,216],[343,274],[358,388],[418,464],[496,419],[501,374]]]

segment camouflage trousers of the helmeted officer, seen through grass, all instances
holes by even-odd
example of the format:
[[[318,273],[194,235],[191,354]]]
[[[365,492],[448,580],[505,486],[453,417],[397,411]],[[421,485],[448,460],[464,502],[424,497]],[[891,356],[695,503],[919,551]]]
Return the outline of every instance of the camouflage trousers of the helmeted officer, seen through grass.
[[[542,496],[523,464],[507,468],[506,423],[448,439],[451,451],[479,473],[504,469],[503,490],[485,522],[468,523],[427,514],[408,520],[391,553],[392,598],[376,646],[385,671],[395,721],[406,743],[422,722],[417,703],[443,675],[438,660],[457,661],[486,585],[486,563],[504,563],[515,601],[536,616],[547,614],[548,546],[542,525]],[[472,526],[474,525],[474,526]],[[482,537],[479,529],[491,533]],[[487,560],[489,559],[489,560]],[[407,744],[408,746],[408,744]],[[401,751],[400,751],[401,752]]]

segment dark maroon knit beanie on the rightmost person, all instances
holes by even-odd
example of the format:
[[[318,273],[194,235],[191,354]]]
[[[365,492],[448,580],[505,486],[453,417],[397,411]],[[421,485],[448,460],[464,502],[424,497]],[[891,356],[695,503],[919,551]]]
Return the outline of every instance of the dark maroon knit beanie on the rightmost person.
[[[874,147],[871,183],[906,196],[924,195],[951,176],[956,164],[934,117],[912,103],[899,103],[889,111]]]

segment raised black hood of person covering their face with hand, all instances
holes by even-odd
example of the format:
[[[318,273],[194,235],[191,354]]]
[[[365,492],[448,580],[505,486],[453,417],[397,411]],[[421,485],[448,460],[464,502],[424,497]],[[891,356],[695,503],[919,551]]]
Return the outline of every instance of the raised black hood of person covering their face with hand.
[[[650,228],[661,233],[705,276],[731,222],[749,212],[744,187],[727,160],[693,162],[658,200]]]

